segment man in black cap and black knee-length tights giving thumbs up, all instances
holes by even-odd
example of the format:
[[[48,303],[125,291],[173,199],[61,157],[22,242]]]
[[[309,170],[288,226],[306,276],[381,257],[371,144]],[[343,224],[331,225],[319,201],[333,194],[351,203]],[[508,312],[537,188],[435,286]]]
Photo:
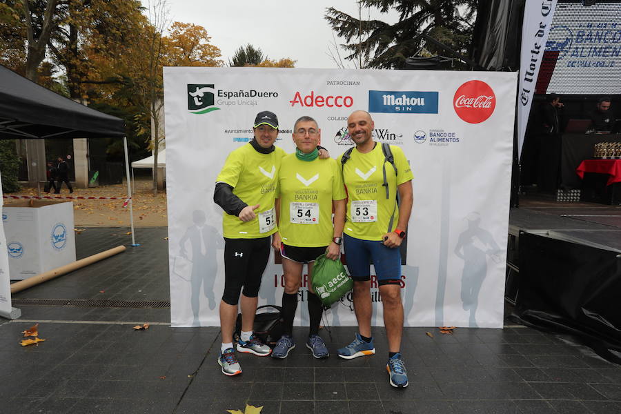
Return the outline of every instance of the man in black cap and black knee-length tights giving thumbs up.
[[[224,375],[242,373],[233,348],[238,302],[242,308],[242,333],[237,351],[260,357],[272,352],[253,335],[253,323],[261,278],[270,255],[270,236],[277,230],[274,199],[277,171],[285,152],[274,146],[278,119],[273,112],[259,112],[253,131],[254,138],[226,158],[213,195],[225,213],[224,294],[219,309],[222,344],[218,355]]]

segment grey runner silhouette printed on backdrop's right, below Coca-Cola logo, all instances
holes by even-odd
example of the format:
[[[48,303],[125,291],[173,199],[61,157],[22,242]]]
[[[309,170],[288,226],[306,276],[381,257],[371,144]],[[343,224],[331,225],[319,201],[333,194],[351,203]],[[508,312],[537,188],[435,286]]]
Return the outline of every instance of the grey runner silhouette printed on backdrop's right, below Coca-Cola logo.
[[[487,256],[495,263],[500,262],[500,248],[491,233],[480,228],[481,215],[477,212],[466,216],[468,228],[460,234],[455,246],[455,255],[464,261],[462,270],[462,307],[470,311],[470,326],[476,328],[477,306],[483,281],[487,276]]]

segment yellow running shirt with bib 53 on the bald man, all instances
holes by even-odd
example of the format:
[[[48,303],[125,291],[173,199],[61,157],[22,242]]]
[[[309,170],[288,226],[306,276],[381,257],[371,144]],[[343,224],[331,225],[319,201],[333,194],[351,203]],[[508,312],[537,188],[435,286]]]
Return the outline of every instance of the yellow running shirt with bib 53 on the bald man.
[[[343,179],[347,188],[346,221],[343,232],[357,239],[380,241],[382,236],[397,228],[399,221],[399,207],[397,206],[397,186],[413,179],[412,170],[398,146],[391,145],[395,168],[385,160],[382,152],[382,144],[377,142],[371,152],[362,154],[354,148],[351,157],[343,168]],[[337,159],[341,166],[341,155]],[[384,162],[386,165],[384,166]],[[386,180],[388,181],[388,199],[384,184],[384,172],[386,168]],[[393,225],[388,230],[391,216]]]

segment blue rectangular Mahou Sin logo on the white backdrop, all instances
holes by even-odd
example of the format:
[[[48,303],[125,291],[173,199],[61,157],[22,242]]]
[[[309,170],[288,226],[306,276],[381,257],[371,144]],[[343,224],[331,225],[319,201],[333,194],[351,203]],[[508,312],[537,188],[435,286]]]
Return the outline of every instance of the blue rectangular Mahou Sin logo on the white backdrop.
[[[437,92],[369,90],[368,112],[437,114]]]

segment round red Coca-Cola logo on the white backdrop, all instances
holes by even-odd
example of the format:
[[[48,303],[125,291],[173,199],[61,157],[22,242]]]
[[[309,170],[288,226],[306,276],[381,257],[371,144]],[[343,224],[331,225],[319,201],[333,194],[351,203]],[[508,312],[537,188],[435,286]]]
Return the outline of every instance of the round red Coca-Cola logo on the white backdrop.
[[[494,112],[496,95],[484,81],[467,81],[457,88],[453,108],[457,116],[470,124],[485,121]]]

